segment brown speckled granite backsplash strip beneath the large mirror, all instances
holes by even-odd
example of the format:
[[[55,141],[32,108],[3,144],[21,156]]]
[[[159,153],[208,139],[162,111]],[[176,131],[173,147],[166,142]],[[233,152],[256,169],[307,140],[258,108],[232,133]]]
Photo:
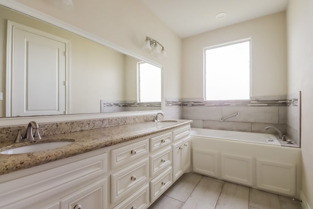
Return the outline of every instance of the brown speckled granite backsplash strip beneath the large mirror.
[[[77,131],[85,131],[90,129],[105,128],[117,125],[126,125],[139,122],[152,121],[154,115],[143,116],[125,116],[125,117],[111,117],[102,119],[90,119],[79,120],[59,123],[45,123],[39,124],[40,135],[50,136],[62,133],[71,133]],[[18,129],[21,129],[21,133],[24,134],[27,125],[24,126],[12,126],[0,128],[0,142],[14,141],[18,134]]]

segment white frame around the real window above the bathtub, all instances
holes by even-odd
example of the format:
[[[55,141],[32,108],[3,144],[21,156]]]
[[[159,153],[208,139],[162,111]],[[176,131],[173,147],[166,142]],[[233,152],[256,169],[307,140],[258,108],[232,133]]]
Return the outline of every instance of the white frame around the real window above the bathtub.
[[[209,46],[209,47],[205,47],[203,48],[203,98],[204,101],[227,101],[227,100],[207,100],[206,98],[206,50],[208,49],[213,49],[213,48],[219,48],[219,47],[224,47],[224,46],[230,46],[230,45],[234,45],[234,44],[240,44],[240,43],[244,43],[244,42],[249,42],[249,47],[250,47],[250,69],[249,69],[249,99],[228,99],[229,100],[238,100],[238,101],[245,101],[245,100],[250,100],[251,99],[251,93],[252,93],[252,70],[251,70],[251,66],[252,66],[252,60],[251,60],[251,38],[247,38],[247,39],[242,39],[242,40],[237,40],[237,41],[233,41],[233,42],[228,42],[228,43],[224,43],[224,44],[220,44],[220,45],[215,45],[215,46]]]

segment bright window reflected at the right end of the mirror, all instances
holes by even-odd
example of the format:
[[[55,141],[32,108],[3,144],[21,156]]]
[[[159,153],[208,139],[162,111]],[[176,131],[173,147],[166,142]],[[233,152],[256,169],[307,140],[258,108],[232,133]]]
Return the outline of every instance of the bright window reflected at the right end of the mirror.
[[[161,101],[161,68],[149,63],[138,63],[139,102]]]

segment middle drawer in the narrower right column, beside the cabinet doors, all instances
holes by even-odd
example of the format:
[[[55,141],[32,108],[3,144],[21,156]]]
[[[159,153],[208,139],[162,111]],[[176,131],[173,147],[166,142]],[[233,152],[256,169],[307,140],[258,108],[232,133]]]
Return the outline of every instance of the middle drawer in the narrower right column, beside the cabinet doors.
[[[150,176],[153,177],[162,169],[166,168],[172,163],[172,148],[158,152],[156,155],[150,157]]]

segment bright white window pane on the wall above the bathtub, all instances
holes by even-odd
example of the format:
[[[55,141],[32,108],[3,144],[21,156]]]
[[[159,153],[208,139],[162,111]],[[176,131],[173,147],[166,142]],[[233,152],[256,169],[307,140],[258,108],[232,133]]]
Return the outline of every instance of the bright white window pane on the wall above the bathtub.
[[[204,49],[205,100],[250,98],[250,40]]]

